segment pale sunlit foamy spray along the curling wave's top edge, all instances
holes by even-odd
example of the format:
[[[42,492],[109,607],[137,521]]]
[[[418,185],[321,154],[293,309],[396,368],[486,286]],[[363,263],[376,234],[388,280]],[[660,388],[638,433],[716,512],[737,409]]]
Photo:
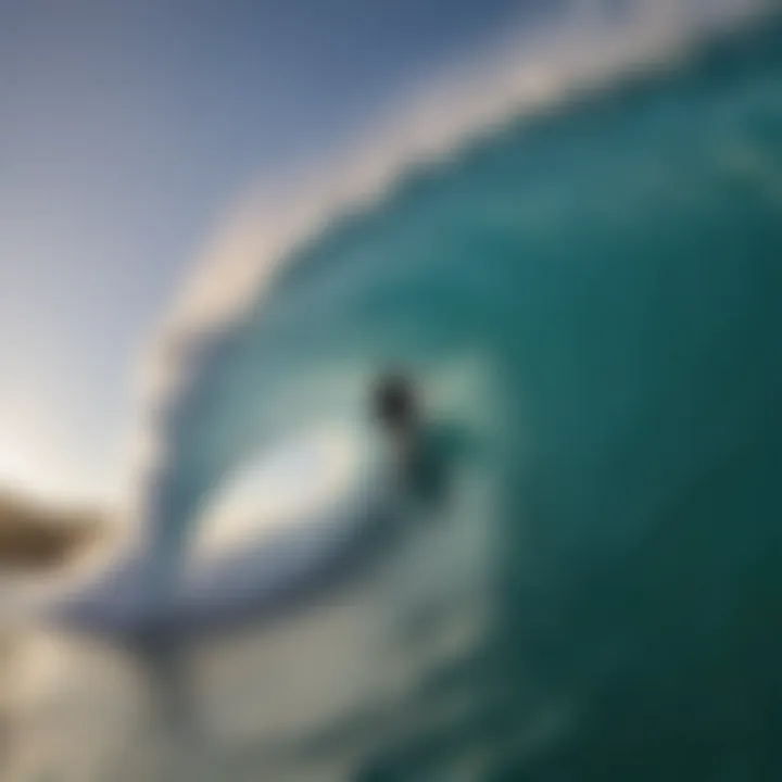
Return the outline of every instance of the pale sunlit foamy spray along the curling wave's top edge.
[[[507,36],[497,51],[418,88],[377,123],[370,140],[354,139],[346,152],[314,166],[317,174],[276,181],[240,204],[169,313],[164,330],[178,335],[169,339],[187,343],[187,332],[247,312],[280,266],[295,263],[297,249],[341,216],[377,204],[421,166],[447,164],[476,139],[584,90],[676,68],[701,45],[758,24],[773,9],[767,0],[635,0],[617,18],[601,5],[579,2],[551,28]]]

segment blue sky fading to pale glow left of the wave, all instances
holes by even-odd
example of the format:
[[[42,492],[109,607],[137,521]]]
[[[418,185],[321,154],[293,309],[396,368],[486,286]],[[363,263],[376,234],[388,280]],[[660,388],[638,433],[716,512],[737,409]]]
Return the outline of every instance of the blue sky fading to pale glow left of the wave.
[[[113,502],[139,356],[225,210],[532,7],[0,0],[0,485]]]

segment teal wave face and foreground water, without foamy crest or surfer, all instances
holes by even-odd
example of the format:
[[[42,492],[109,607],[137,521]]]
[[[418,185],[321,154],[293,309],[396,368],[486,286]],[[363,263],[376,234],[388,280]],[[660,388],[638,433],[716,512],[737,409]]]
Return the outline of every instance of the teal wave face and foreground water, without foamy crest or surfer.
[[[779,779],[778,18],[510,117],[291,255],[189,346],[148,517],[176,537],[258,442],[360,426],[399,365],[478,443],[454,496],[188,642],[174,707],[129,649],[14,640],[3,779]]]

